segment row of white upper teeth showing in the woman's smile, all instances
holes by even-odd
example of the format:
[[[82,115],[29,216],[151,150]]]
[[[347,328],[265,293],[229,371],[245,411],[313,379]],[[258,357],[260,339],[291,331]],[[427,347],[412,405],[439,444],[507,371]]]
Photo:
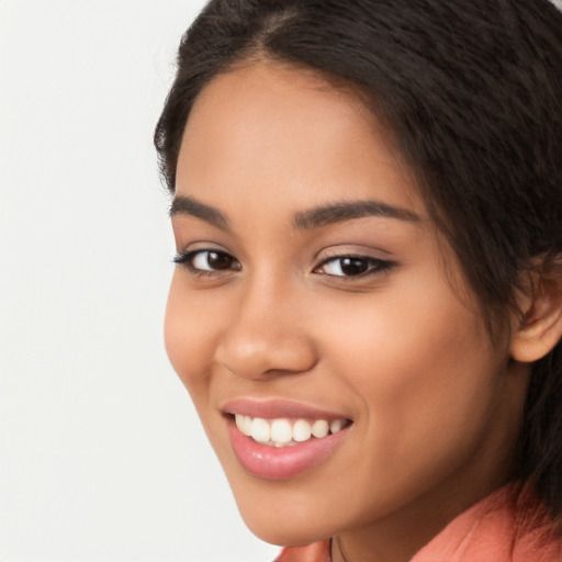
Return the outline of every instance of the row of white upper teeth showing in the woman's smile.
[[[307,419],[296,419],[294,423],[286,418],[263,419],[260,417],[235,415],[236,426],[246,436],[251,437],[255,441],[272,447],[293,446],[299,442],[307,441],[312,437],[322,439],[327,435],[337,434],[346,425],[344,418],[316,419],[308,422]]]

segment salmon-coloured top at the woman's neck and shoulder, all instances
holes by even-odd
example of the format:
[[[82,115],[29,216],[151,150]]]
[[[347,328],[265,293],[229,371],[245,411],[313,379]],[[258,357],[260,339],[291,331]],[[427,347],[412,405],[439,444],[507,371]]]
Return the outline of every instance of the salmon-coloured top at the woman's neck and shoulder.
[[[329,540],[276,562],[330,562]],[[411,562],[561,562],[562,535],[528,486],[512,483],[453,519]]]

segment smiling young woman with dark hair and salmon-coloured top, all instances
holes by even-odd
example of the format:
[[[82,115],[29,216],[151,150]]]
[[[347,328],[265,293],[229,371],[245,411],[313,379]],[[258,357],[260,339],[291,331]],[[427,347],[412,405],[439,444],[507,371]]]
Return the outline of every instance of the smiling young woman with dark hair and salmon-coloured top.
[[[562,13],[213,0],[178,63],[166,344],[250,529],[562,560]]]

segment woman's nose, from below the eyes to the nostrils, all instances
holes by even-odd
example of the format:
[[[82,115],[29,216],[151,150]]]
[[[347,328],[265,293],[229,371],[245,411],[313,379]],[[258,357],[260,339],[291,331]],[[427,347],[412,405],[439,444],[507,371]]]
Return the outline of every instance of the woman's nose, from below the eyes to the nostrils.
[[[303,305],[302,297],[272,283],[240,291],[217,344],[216,363],[252,380],[311,370],[317,352]]]

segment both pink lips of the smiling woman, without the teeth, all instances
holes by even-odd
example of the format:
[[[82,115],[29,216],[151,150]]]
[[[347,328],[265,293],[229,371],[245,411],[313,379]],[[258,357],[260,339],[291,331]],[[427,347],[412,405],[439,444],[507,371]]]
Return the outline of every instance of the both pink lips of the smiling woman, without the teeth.
[[[337,419],[346,416],[291,401],[235,400],[223,407],[234,454],[241,467],[255,476],[285,480],[305,473],[331,456],[348,434],[349,426],[322,439],[312,438],[290,447],[270,447],[244,435],[234,422],[234,414],[265,419],[306,418]]]

